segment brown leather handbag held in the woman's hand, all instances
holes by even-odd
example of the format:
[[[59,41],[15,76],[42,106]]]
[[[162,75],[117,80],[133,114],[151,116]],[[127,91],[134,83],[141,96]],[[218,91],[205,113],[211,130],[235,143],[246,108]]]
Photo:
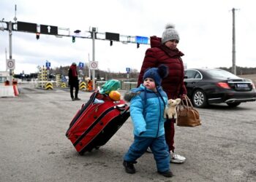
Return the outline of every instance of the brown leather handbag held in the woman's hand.
[[[201,125],[199,113],[186,95],[177,107],[177,126],[196,127],[199,125]]]

